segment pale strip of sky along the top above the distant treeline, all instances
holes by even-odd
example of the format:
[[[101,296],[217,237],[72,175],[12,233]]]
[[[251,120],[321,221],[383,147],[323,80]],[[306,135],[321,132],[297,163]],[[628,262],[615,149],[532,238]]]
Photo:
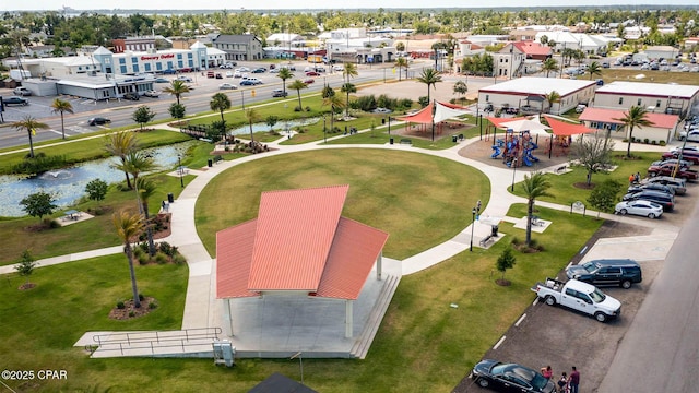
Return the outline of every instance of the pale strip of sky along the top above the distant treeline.
[[[279,12],[289,12],[289,11],[324,11],[324,10],[342,10],[342,11],[353,11],[353,12],[366,12],[366,11],[375,11],[378,9],[383,9],[386,11],[398,11],[398,10],[526,10],[526,9],[542,9],[542,8],[560,8],[560,9],[584,9],[584,8],[600,8],[600,9],[615,9],[615,8],[638,8],[640,10],[643,9],[672,9],[673,7],[682,7],[682,8],[691,8],[697,9],[697,2],[695,0],[612,0],[612,2],[604,0],[582,0],[578,2],[574,7],[571,7],[569,1],[567,0],[543,0],[538,2],[536,5],[526,7],[522,5],[521,1],[518,0],[503,0],[497,7],[484,7],[478,4],[477,2],[473,2],[474,4],[464,4],[458,3],[453,0],[438,0],[433,2],[431,7],[420,5],[422,2],[415,0],[387,0],[382,2],[382,7],[377,8],[376,3],[371,0],[355,0],[353,2],[346,1],[325,1],[327,7],[322,8],[309,8],[309,7],[298,7],[298,5],[289,5],[289,4],[280,4],[276,0],[260,0],[256,1],[256,8],[236,8],[236,9],[227,9],[225,7],[221,7],[221,4],[215,1],[200,1],[197,2],[200,7],[192,8],[190,1],[183,0],[153,0],[149,2],[152,7],[143,8],[142,1],[138,0],[123,0],[119,4],[118,8],[107,8],[102,7],[103,2],[95,2],[93,0],[29,0],[23,3],[25,5],[21,9],[10,9],[10,7],[16,7],[16,3],[8,2],[4,7],[0,8],[2,12],[46,12],[46,11],[61,11],[63,7],[75,10],[76,12],[82,11],[104,11],[104,12],[117,12],[117,11],[143,11],[143,12],[152,12],[152,11],[177,11],[177,12],[220,12],[222,10],[226,10],[229,12],[234,11],[279,11]],[[106,3],[106,2],[104,2]],[[12,4],[12,5],[11,5]],[[414,4],[414,5],[413,5]]]

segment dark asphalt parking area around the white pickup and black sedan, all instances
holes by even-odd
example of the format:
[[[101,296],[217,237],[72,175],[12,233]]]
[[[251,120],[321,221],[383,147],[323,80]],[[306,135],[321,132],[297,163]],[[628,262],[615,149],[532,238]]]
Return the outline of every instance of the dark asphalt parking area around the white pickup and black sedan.
[[[519,362],[534,369],[550,365],[556,379],[562,371],[570,373],[571,366],[576,366],[581,373],[581,391],[595,392],[663,265],[663,261],[639,263],[643,270],[642,283],[630,289],[602,288],[621,302],[619,319],[600,323],[585,314],[535,301],[507,331],[499,346],[488,350],[484,358]],[[534,296],[532,293],[532,299]],[[465,370],[466,377],[453,392],[488,392],[467,378],[470,372]]]

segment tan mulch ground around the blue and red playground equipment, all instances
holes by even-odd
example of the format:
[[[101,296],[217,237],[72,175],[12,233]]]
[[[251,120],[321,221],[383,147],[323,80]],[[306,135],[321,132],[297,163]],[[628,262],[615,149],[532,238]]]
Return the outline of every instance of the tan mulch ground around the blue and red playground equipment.
[[[544,141],[541,141],[544,142]],[[544,142],[545,143],[545,142]],[[554,152],[548,158],[548,150],[545,146],[542,146],[544,143],[540,143],[540,147],[532,152],[532,155],[538,158],[537,163],[533,163],[532,166],[528,167],[525,165],[518,166],[517,169],[525,170],[525,171],[535,171],[542,170],[544,168],[553,167],[553,166],[561,166],[568,163],[568,155],[565,154],[560,148],[554,147]],[[462,157],[475,159],[477,162],[493,165],[506,167],[505,162],[502,160],[502,155],[498,156],[498,158],[490,158],[493,155],[493,145],[495,142],[493,138],[486,140],[485,135],[482,141],[477,141],[472,143],[462,150],[459,151],[459,155]]]

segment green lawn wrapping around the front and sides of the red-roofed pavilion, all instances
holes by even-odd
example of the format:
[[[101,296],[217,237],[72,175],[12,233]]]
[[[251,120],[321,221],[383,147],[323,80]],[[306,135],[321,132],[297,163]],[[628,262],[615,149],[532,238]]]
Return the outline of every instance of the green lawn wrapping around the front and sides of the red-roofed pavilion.
[[[351,198],[348,203],[357,202]],[[508,215],[524,211],[524,205],[516,205]],[[553,222],[544,234],[533,235],[546,251],[516,252],[517,264],[506,273],[511,286],[494,283],[499,275],[495,260],[512,235],[522,239],[524,233],[503,223],[506,236],[489,250],[465,251],[403,277],[367,358],[304,359],[305,383],[319,392],[341,393],[453,389],[531,303],[532,283],[556,274],[602,224],[546,209],[537,214]],[[247,392],[272,372],[300,379],[298,361],[287,359],[239,359],[227,369],[213,366],[211,359],[90,359],[82,348],[72,347],[92,330],[179,326],[187,269],[138,266],[137,276],[141,293],[155,297],[159,307],[128,322],[107,318],[116,301],[129,298],[122,254],[39,269],[31,277],[38,286],[31,290],[16,289],[23,277],[2,277],[0,368],[62,369],[69,377],[3,382],[17,392],[93,392],[109,386],[117,392]]]

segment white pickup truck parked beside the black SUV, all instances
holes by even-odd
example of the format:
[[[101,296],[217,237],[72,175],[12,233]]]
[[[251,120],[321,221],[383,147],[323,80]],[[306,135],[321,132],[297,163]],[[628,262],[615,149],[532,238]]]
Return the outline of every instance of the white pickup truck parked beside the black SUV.
[[[604,295],[597,287],[577,279],[559,282],[546,278],[544,283],[536,283],[532,290],[544,299],[546,305],[561,305],[577,311],[593,315],[597,321],[605,322],[617,318],[621,313],[621,303],[612,296]]]

